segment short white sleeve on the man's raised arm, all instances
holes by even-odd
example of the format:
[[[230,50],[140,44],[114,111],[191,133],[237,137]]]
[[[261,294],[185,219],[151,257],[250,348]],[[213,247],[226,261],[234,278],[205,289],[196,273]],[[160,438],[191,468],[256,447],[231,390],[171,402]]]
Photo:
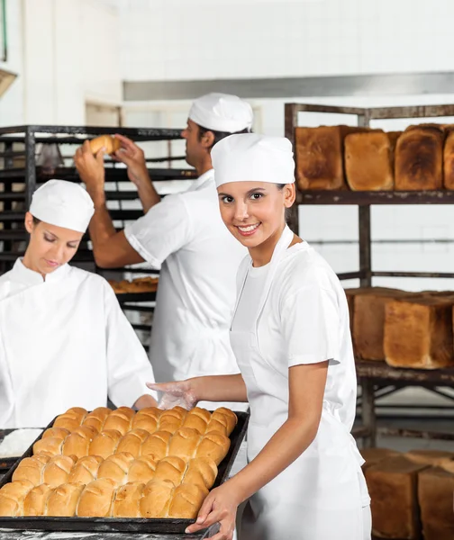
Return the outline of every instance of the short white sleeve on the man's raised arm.
[[[168,195],[124,229],[131,246],[157,269],[193,235],[192,220],[181,195]]]

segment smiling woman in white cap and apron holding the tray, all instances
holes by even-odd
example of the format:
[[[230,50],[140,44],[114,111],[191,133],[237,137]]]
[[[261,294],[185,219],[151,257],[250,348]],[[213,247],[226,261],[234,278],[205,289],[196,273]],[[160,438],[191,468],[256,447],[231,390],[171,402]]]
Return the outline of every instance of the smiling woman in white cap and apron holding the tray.
[[[287,139],[232,135],[212,152],[222,220],[248,247],[238,275],[231,342],[241,375],[151,384],[192,406],[250,402],[248,465],[213,490],[188,532],[216,521],[241,540],[367,540],[363,460],[350,435],[356,374],[340,282],[286,226],[295,201]]]

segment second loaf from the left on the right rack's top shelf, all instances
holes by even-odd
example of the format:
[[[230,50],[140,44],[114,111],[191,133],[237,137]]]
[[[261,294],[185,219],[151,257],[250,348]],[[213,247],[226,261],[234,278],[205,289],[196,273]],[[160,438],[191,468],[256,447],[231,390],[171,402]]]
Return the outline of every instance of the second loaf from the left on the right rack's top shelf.
[[[353,191],[394,188],[393,139],[384,131],[350,133],[345,138],[345,175]]]

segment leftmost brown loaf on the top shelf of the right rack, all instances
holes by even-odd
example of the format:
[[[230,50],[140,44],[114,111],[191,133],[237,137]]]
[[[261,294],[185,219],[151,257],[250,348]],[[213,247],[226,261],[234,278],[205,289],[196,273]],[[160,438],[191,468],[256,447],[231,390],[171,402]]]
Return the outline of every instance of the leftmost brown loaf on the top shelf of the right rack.
[[[301,190],[347,189],[343,139],[366,128],[321,126],[295,129],[296,183]]]

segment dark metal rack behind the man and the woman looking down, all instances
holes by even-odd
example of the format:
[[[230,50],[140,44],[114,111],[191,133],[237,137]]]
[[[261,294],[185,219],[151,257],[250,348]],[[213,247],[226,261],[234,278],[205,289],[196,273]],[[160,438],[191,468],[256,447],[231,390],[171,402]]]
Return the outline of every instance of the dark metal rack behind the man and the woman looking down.
[[[104,134],[113,135],[117,132],[137,142],[168,142],[168,155],[147,157],[150,176],[154,183],[195,179],[193,169],[184,168],[184,166],[175,167],[178,165],[177,162],[183,162],[185,157],[170,155],[169,145],[172,140],[181,139],[180,130],[42,125],[0,128],[0,247],[3,244],[3,248],[0,248],[0,275],[13,266],[17,257],[23,255],[28,238],[23,228],[23,218],[30,206],[35,189],[50,178],[79,183],[77,170],[72,163],[72,155],[77,146],[81,145],[85,139]],[[70,155],[62,155],[58,166],[37,166],[37,145],[40,143],[57,144],[59,150],[62,149],[64,153],[64,148],[66,148]],[[61,147],[61,145],[68,146]],[[107,159],[105,163],[105,182],[107,185],[114,186],[106,189],[107,201],[108,204],[117,202],[119,206],[118,209],[110,210],[110,214],[113,220],[121,225],[118,228],[123,229],[125,221],[138,219],[143,215],[143,211],[140,210],[137,191],[121,189],[124,184],[131,186],[126,168],[110,159]],[[122,208],[124,202],[132,201],[138,202],[137,209]],[[73,259],[75,265],[112,279],[122,279],[125,273],[130,275],[158,274],[156,270],[144,267],[102,270],[95,266],[88,242],[89,236],[86,234]],[[152,313],[156,293],[119,294],[117,298],[123,311]],[[148,338],[151,328],[149,324],[133,323],[132,326],[139,332],[145,332]],[[144,347],[147,348],[148,345],[144,344]]]

